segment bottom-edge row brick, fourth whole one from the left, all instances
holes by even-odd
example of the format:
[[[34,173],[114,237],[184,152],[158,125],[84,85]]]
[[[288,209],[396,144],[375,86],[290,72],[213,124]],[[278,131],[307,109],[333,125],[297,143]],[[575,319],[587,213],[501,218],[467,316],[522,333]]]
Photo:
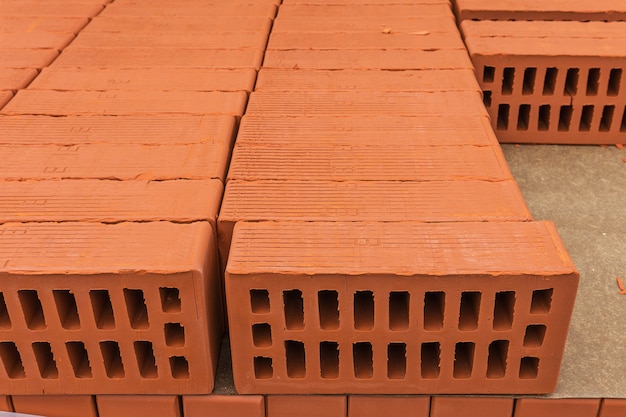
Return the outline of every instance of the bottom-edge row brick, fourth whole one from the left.
[[[346,417],[347,398],[341,395],[268,395],[267,417]]]

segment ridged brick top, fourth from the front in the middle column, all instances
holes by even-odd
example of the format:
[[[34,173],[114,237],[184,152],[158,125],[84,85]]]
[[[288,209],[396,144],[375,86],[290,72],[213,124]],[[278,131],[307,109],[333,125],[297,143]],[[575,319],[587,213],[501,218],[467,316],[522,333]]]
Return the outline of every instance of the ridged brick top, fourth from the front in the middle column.
[[[0,118],[0,121],[2,119]],[[296,117],[252,115],[241,119],[238,144],[358,145],[497,145],[487,117],[437,115],[420,117]]]

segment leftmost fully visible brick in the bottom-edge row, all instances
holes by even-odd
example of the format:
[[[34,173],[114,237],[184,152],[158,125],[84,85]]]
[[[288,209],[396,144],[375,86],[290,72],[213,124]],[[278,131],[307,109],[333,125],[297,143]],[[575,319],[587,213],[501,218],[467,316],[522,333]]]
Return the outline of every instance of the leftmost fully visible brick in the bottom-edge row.
[[[46,417],[98,417],[90,395],[14,395],[15,412]]]

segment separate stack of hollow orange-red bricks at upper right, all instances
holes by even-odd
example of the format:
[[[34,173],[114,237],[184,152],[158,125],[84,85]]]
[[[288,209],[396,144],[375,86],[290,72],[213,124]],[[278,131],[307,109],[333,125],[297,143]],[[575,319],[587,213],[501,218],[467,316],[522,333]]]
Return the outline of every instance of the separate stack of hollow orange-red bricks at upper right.
[[[457,0],[501,142],[626,143],[626,5]]]

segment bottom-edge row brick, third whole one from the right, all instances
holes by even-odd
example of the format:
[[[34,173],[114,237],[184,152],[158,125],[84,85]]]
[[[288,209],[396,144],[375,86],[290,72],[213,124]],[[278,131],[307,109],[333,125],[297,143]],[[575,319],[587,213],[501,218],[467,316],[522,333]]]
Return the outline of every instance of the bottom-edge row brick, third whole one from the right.
[[[348,417],[429,417],[430,397],[351,395]]]

